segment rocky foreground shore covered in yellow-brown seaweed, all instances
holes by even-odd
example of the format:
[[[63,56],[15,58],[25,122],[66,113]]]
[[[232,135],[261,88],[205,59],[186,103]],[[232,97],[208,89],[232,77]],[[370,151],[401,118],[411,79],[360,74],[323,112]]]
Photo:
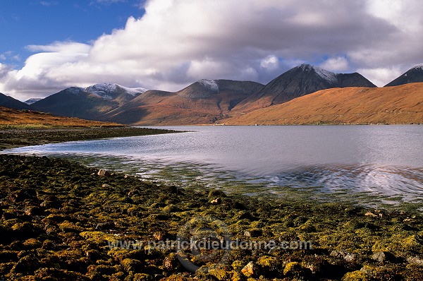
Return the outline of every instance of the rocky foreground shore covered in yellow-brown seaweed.
[[[0,215],[4,280],[423,280],[419,213],[235,197],[0,155]],[[268,244],[178,255],[185,234]]]

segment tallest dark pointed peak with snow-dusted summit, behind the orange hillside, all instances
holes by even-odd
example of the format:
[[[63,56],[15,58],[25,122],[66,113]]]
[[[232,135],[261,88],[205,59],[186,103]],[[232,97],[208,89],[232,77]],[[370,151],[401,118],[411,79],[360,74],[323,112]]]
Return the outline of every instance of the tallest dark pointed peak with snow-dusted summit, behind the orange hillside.
[[[360,73],[333,73],[309,64],[301,64],[271,80],[261,91],[240,102],[234,110],[249,112],[288,102],[318,90],[345,87],[374,88],[376,85]]]

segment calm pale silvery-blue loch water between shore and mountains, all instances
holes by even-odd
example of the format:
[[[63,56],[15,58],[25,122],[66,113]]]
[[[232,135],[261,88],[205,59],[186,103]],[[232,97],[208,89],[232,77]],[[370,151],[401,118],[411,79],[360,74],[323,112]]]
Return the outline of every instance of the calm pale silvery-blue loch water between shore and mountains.
[[[353,198],[371,205],[423,202],[423,126],[171,128],[190,132],[13,152],[71,157],[86,165],[230,192]]]

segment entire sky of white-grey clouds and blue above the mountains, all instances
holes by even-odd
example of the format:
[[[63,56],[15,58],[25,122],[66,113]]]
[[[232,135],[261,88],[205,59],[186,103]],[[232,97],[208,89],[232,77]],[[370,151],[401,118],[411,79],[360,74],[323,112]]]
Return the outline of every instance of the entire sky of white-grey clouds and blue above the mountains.
[[[299,64],[378,86],[423,63],[419,0],[0,0],[0,92],[269,83]]]

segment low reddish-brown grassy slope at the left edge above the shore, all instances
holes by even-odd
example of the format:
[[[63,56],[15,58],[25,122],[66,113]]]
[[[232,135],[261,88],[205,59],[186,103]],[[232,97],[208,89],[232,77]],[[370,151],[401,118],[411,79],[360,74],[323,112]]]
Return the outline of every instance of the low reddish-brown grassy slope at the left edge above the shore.
[[[111,122],[90,121],[75,117],[58,117],[43,112],[0,107],[1,127],[111,127]]]

